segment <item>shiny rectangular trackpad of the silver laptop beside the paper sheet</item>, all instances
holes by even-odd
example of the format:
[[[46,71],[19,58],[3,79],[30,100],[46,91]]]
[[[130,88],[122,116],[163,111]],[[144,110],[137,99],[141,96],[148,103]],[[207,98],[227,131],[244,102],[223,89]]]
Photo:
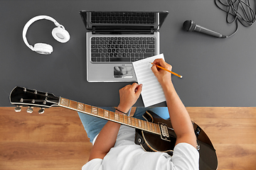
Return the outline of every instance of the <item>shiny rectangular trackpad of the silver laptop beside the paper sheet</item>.
[[[114,78],[132,78],[131,66],[114,66]]]

